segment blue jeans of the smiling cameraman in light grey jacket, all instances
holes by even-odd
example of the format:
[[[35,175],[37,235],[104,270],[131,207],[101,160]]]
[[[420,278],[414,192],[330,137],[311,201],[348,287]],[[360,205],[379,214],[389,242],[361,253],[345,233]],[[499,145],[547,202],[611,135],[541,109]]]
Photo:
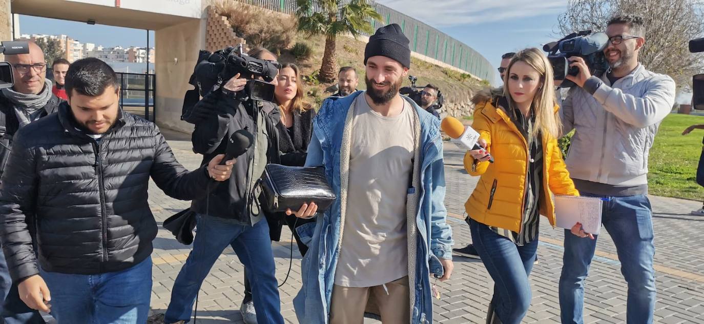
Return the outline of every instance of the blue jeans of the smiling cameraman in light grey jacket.
[[[597,197],[594,194],[583,196]],[[621,273],[628,284],[626,322],[653,323],[655,309],[655,270],[653,270],[653,223],[650,200],[644,194],[610,197],[603,203],[601,223],[611,235]],[[565,230],[565,254],[560,275],[560,313],[562,324],[582,324],[584,279],[596,249],[596,237],[589,239]]]

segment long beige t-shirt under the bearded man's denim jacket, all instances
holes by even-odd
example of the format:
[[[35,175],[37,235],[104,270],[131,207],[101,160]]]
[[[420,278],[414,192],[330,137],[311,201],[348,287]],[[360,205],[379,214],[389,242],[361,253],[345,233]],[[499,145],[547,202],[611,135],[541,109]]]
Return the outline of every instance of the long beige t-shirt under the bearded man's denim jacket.
[[[413,176],[413,108],[372,111],[365,95],[352,120],[347,207],[335,285],[373,287],[408,275],[406,198]]]

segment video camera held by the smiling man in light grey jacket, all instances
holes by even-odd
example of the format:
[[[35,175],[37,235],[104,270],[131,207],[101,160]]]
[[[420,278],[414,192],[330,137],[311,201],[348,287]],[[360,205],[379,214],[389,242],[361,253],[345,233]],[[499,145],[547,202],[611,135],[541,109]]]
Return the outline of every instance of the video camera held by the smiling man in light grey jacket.
[[[609,37],[604,32],[592,34],[591,30],[583,30],[573,32],[557,42],[545,44],[543,51],[548,52],[548,61],[553,66],[555,80],[563,80],[560,87],[569,88],[574,86],[574,82],[565,80],[565,77],[577,76],[579,69],[570,68],[567,58],[572,56],[584,58],[591,75],[601,77],[609,69],[609,63],[604,55],[604,49],[608,44]]]

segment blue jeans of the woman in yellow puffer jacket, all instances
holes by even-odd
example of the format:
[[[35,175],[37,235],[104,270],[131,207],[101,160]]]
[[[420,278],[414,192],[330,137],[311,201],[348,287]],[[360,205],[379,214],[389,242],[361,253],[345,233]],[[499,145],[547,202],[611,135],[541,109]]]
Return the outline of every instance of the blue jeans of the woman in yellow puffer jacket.
[[[496,316],[503,324],[520,324],[531,302],[528,275],[538,251],[538,238],[520,247],[475,220],[470,220],[470,230],[474,248],[494,279],[491,302],[496,306]]]

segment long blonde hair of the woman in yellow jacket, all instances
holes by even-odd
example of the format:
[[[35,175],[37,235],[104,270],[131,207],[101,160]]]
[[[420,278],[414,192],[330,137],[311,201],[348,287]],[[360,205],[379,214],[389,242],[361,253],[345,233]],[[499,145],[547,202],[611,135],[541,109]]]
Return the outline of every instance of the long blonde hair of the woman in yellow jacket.
[[[550,135],[553,138],[560,137],[562,129],[562,120],[560,114],[555,111],[555,83],[553,82],[553,66],[548,61],[548,58],[543,54],[543,51],[534,47],[524,49],[516,53],[511,62],[508,63],[506,74],[503,80],[503,96],[508,99],[511,109],[515,106],[515,102],[508,90],[508,78],[510,77],[511,68],[517,62],[526,63],[528,66],[536,70],[540,74],[541,84],[533,97],[532,108],[535,114],[535,123],[533,134],[537,135],[540,131],[543,136]]]

